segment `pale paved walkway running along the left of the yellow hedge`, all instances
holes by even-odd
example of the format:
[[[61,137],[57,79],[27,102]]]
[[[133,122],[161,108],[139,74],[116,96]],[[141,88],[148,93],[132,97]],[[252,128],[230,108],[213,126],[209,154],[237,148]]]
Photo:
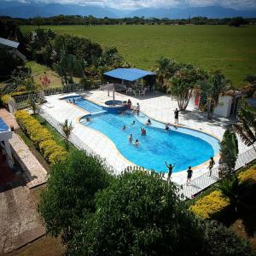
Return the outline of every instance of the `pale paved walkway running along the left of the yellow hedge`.
[[[16,129],[19,128],[15,118],[6,109],[1,109],[0,114],[7,125],[14,125]],[[22,177],[26,182],[27,188],[32,189],[45,183],[47,181],[47,172],[26,146],[26,143],[15,132],[13,132],[9,143],[13,149],[15,159],[24,171]]]

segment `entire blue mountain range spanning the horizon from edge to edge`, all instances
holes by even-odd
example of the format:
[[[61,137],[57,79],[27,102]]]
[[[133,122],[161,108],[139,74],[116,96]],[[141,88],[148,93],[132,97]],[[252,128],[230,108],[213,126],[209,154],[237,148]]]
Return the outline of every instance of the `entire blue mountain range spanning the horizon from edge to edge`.
[[[1,0],[0,0],[1,1]],[[224,18],[242,16],[245,18],[256,17],[256,10],[236,10],[228,9],[220,6],[207,7],[190,7],[190,8],[169,8],[169,9],[137,9],[131,12],[121,11],[118,9],[110,9],[100,6],[81,6],[77,4],[61,4],[61,3],[20,3],[15,1],[1,1],[0,15],[11,16],[15,18],[32,18],[34,16],[50,17],[55,15],[93,15],[97,18],[107,16],[108,18],[120,17],[155,17],[182,19],[205,16],[207,18]]]

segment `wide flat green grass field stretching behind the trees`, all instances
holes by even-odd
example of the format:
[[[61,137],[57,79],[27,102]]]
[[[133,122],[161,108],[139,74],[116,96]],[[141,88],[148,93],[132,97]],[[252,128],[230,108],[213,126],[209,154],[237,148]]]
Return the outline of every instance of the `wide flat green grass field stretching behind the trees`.
[[[116,46],[126,61],[150,69],[161,55],[208,70],[221,69],[236,87],[256,73],[256,26],[42,26]],[[34,26],[22,26],[28,32]]]

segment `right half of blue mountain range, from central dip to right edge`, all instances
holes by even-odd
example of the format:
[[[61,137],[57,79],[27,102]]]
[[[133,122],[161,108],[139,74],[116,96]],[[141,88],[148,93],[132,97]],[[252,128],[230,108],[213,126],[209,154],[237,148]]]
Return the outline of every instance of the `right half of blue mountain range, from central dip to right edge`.
[[[231,18],[242,16],[244,18],[256,17],[255,10],[236,10],[224,8],[220,6],[206,6],[206,7],[190,7],[186,9],[170,8],[170,9],[137,9],[129,14],[129,16],[144,16],[146,18],[169,18],[169,19],[187,19],[195,16],[204,16],[207,18]]]

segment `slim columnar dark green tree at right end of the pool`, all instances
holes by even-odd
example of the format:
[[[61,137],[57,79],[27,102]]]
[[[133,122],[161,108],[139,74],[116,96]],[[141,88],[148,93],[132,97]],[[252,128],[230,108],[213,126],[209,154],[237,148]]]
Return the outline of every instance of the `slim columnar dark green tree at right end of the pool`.
[[[220,160],[219,160],[219,173],[220,175],[231,177],[235,166],[238,155],[238,142],[236,133],[231,129],[227,129],[224,132],[222,142],[220,146]]]

